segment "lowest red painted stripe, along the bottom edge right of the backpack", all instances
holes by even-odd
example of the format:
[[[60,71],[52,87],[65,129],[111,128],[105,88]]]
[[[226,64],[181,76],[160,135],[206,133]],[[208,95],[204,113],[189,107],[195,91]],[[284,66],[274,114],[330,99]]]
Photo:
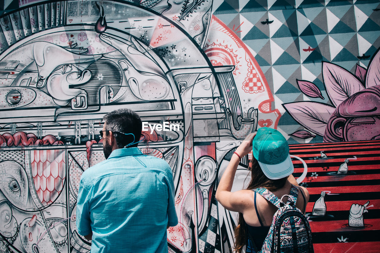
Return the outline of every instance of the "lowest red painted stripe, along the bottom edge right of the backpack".
[[[337,242],[335,244],[313,244],[313,246],[315,253],[378,253],[380,242]]]

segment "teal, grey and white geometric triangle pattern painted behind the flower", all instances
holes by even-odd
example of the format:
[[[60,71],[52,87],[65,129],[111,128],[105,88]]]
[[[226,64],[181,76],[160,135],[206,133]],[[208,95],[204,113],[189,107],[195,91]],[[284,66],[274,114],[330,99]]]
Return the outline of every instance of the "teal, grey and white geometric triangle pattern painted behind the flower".
[[[271,87],[282,117],[283,133],[303,129],[282,104],[310,100],[296,79],[313,82],[326,95],[322,61],[355,73],[356,64],[367,68],[380,47],[380,3],[377,0],[259,1],[225,0],[214,3],[214,15],[249,46]],[[321,98],[314,100],[330,103]],[[305,140],[289,136],[288,142]],[[318,136],[313,142],[321,142]],[[306,140],[307,142],[307,140]]]

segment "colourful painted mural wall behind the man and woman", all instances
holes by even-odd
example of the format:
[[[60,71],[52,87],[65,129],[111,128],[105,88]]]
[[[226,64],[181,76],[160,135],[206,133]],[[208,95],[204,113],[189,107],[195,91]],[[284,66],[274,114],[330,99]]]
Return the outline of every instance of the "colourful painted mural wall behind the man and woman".
[[[144,131],[139,145],[173,171],[169,252],[231,252],[237,213],[215,189],[263,126],[288,138],[315,252],[378,251],[378,1],[18,6],[0,17],[0,252],[89,252],[75,225],[79,179],[105,159],[102,118],[118,108],[180,125]],[[233,190],[247,168],[244,157]]]

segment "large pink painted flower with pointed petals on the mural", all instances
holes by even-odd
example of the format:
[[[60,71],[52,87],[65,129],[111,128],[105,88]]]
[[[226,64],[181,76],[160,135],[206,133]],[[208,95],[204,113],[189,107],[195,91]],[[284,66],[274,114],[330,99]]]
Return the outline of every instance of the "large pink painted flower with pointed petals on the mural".
[[[322,76],[332,105],[315,101],[283,104],[293,119],[307,129],[291,135],[310,138],[315,133],[323,136],[324,142],[380,139],[379,50],[367,70],[357,65],[354,75],[336,64],[322,62]],[[312,82],[297,82],[305,95],[324,99]]]

